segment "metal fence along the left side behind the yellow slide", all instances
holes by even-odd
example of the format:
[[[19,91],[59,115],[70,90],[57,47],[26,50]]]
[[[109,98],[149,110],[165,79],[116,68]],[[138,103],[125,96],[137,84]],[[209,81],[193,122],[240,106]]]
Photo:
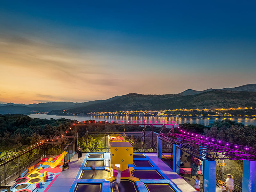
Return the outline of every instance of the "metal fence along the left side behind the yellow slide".
[[[8,161],[5,161],[5,158],[3,158],[0,164],[0,186],[6,185],[9,181],[18,178],[20,173],[28,167],[39,163],[43,157],[61,154],[63,148],[73,145],[72,143],[76,142],[72,141],[68,145],[50,142],[42,143]],[[76,148],[73,147],[73,149]],[[68,157],[71,159],[73,156],[69,155]]]

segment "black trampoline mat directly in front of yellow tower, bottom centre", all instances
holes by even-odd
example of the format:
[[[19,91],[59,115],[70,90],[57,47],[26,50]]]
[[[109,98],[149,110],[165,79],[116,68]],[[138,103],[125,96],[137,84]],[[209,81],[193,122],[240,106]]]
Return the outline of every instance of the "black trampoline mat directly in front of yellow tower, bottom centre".
[[[111,192],[116,192],[116,180],[111,183]],[[135,182],[130,180],[121,180],[118,186],[119,192],[138,192]]]

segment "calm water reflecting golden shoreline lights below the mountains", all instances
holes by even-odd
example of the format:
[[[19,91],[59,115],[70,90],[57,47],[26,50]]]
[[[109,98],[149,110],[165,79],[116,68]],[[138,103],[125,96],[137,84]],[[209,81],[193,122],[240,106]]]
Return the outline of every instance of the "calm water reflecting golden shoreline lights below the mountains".
[[[85,120],[95,120],[95,121],[122,121],[126,120],[128,121],[135,121],[136,123],[139,123],[139,121],[143,122],[147,121],[147,123],[150,123],[150,121],[156,123],[156,121],[159,123],[160,121],[175,121],[178,124],[184,124],[184,123],[194,123],[194,124],[202,124],[205,126],[209,126],[209,124],[213,123],[215,120],[223,120],[225,118],[197,118],[197,117],[157,117],[157,116],[150,116],[150,117],[126,117],[126,116],[57,116],[57,115],[46,115],[46,114],[33,114],[28,115],[32,118],[41,118],[41,119],[59,119],[59,118],[66,118],[71,120],[77,120],[77,121],[85,121]],[[239,123],[243,123],[244,125],[256,125],[256,118],[230,118],[232,121],[236,121]]]

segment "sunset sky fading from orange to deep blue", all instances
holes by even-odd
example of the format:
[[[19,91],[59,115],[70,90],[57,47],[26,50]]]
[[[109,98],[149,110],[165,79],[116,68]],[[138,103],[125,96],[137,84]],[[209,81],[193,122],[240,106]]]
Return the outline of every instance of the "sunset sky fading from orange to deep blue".
[[[255,1],[0,2],[0,102],[256,83]]]

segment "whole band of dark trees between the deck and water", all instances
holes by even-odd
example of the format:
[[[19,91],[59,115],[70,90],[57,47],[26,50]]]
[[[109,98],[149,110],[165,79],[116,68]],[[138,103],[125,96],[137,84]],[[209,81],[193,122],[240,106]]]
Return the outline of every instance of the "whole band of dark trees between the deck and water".
[[[67,130],[73,120],[61,119],[39,119],[30,118],[26,115],[0,115],[0,154],[11,154],[21,148],[34,144],[39,140],[52,139]],[[79,138],[86,136],[88,132],[124,132],[124,125],[120,124],[91,124],[77,126]],[[230,143],[240,144],[256,148],[256,126],[245,126],[230,120],[215,121],[210,127],[200,124],[180,124],[180,128],[194,133],[204,134],[208,137],[225,140]],[[153,126],[153,131],[159,133],[161,126]],[[142,131],[143,127],[138,125],[126,125],[126,132]],[[146,126],[145,131],[151,131],[151,126]],[[169,130],[166,130],[169,131]],[[179,133],[179,129],[175,129]],[[66,135],[73,136],[72,129]],[[61,140],[59,140],[61,141]]]

